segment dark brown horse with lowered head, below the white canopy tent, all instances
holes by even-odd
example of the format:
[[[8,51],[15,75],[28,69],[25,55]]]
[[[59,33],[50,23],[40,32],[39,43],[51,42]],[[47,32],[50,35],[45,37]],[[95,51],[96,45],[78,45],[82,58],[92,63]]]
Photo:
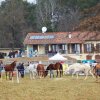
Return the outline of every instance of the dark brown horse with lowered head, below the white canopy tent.
[[[56,64],[50,64],[46,69],[46,75],[47,75],[48,71],[50,71],[50,78],[52,75],[54,77],[54,73],[53,73],[54,70],[56,70],[56,72],[57,72],[56,77],[58,77],[59,72],[60,72],[60,77],[63,75],[63,67],[62,67],[61,63],[57,62]]]

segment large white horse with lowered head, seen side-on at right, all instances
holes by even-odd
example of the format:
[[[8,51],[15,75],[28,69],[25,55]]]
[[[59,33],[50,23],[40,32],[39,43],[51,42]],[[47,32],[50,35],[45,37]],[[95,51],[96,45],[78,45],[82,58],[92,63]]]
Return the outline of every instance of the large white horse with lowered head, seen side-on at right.
[[[80,63],[72,64],[65,71],[65,74],[70,73],[70,72],[72,72],[72,77],[74,76],[74,74],[76,74],[77,79],[78,79],[80,72],[84,72],[84,74],[86,75],[84,80],[87,79],[88,74],[91,74],[92,77],[94,78],[94,75],[92,73],[92,69],[91,69],[89,64],[80,64]]]

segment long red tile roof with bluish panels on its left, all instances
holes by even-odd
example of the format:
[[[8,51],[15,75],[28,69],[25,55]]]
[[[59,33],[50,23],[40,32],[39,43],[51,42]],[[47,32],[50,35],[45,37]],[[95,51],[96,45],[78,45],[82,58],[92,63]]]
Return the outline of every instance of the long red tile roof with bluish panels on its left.
[[[69,32],[28,33],[24,40],[24,44],[83,43],[87,40],[100,40],[100,33],[96,32],[70,33],[71,38],[68,37]]]

